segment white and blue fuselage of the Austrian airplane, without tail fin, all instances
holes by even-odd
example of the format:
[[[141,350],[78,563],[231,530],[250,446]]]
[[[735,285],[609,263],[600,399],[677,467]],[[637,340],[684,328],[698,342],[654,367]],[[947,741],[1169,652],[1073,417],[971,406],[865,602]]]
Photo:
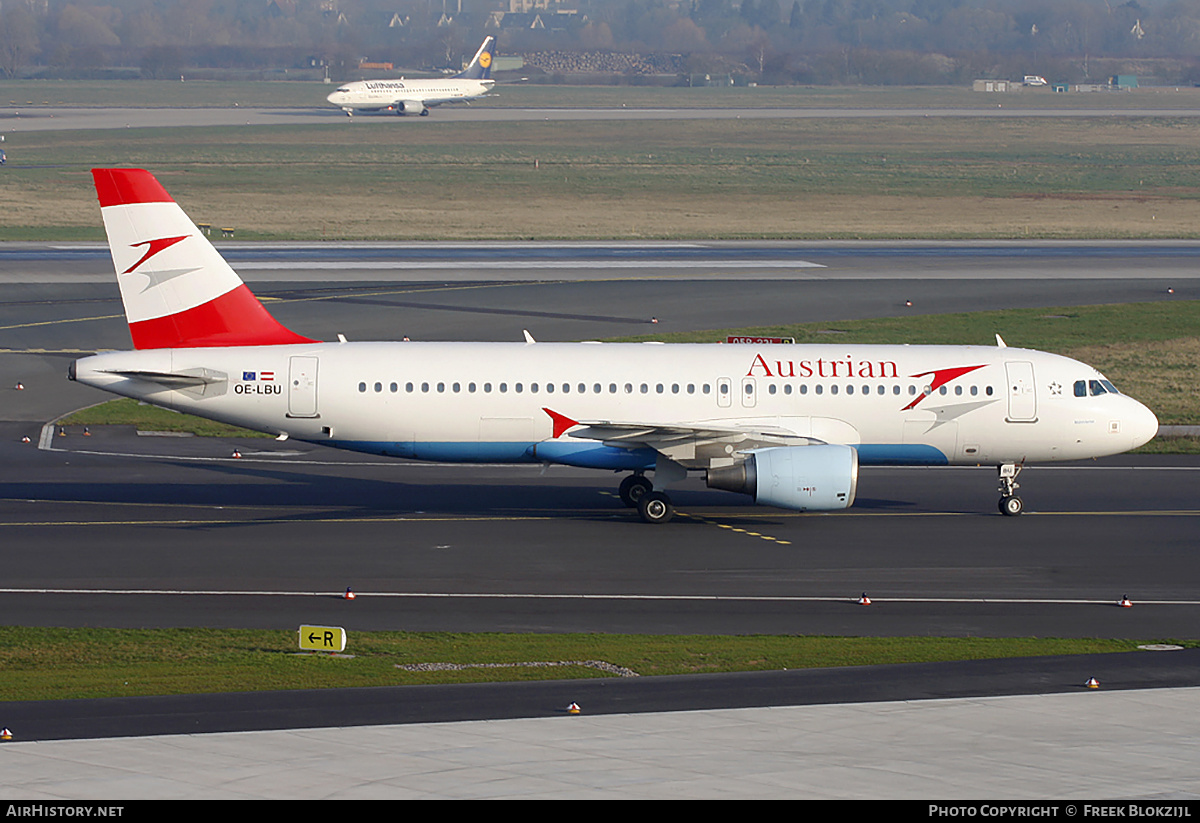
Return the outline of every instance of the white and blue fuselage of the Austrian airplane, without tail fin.
[[[689,469],[772,433],[852,445],[863,464],[1003,464],[1120,453],[1158,426],[1094,368],[1000,347],[312,343],[98,354],[74,377],[359,451],[634,470],[654,464],[636,437],[556,437],[546,409],[581,426],[746,431],[672,456]]]

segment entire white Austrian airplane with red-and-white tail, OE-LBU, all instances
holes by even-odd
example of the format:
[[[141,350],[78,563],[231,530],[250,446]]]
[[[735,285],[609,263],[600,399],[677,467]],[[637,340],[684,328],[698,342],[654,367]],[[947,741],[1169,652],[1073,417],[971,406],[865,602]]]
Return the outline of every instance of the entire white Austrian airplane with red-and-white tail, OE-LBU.
[[[277,323],[155,178],[95,169],[133,352],[73,380],[340,449],[629,471],[622,500],[671,518],[708,485],[800,511],[846,509],[858,467],[998,467],[1019,515],[1026,462],[1115,455],[1158,429],[1103,374],[974,346],[322,343]],[[646,473],[653,471],[653,482]]]

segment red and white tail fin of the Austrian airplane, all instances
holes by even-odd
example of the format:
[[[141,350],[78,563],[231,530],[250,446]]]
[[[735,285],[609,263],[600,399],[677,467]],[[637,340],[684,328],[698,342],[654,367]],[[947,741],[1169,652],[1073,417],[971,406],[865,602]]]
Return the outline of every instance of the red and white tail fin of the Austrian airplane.
[[[136,349],[312,343],[263,308],[152,174],[92,169]]]

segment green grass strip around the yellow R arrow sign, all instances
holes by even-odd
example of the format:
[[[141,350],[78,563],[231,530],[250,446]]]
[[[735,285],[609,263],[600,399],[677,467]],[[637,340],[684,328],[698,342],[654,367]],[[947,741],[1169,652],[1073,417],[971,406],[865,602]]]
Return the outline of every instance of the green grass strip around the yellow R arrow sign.
[[[1132,651],[1141,641],[983,637],[502,635],[349,631],[346,655],[296,631],[0,626],[0,701],[612,677],[590,666],[407,671],[415,663],[604,661],[638,675]],[[1198,641],[1165,641],[1198,645]]]

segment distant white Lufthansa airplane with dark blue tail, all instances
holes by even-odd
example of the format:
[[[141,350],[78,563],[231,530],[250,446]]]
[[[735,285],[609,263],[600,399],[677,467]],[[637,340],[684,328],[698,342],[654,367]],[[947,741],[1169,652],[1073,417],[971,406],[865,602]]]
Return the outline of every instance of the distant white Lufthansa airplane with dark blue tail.
[[[395,112],[427,116],[430,109],[442,103],[469,103],[482,97],[496,80],[492,79],[492,55],[496,37],[484,38],[470,65],[454,77],[440,80],[359,80],[338,86],[328,100],[353,116],[361,112]]]

